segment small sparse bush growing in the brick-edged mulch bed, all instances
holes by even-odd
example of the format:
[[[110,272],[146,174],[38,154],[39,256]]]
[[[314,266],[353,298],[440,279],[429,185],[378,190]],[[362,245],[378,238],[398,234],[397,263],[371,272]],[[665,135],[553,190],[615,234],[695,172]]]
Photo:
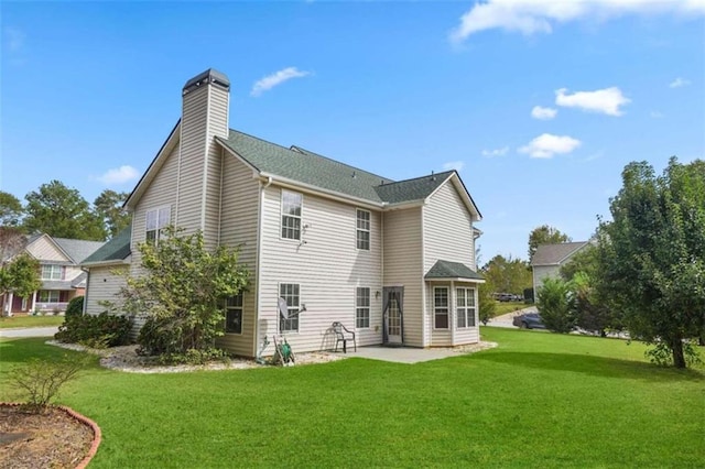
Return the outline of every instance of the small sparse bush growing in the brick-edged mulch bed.
[[[25,396],[30,412],[41,413],[58,395],[61,388],[75,379],[88,359],[63,356],[58,360],[32,359],[10,371],[10,382]]]

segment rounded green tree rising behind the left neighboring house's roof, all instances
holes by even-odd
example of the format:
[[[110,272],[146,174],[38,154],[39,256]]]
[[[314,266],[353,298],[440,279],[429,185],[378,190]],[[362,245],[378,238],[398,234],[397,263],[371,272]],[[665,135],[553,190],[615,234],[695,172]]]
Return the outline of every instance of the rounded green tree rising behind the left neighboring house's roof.
[[[28,201],[24,228],[29,232],[94,241],[106,239],[102,221],[90,210],[78,190],[52,181],[24,198]]]

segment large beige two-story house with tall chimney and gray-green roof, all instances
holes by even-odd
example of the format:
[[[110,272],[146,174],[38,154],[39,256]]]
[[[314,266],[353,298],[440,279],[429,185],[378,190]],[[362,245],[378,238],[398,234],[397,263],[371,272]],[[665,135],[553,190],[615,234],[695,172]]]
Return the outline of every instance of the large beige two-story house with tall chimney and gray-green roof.
[[[459,175],[394,182],[231,130],[229,88],[214,69],[186,83],[181,119],[126,203],[131,255],[109,261],[139,274],[138,244],[169,225],[202,230],[209,247],[240,246],[250,285],[228,301],[219,345],[242,356],[278,334],[296,351],[332,348],[333,321],[362,346],[479,341],[480,212]],[[98,253],[87,261],[97,314],[117,280]]]

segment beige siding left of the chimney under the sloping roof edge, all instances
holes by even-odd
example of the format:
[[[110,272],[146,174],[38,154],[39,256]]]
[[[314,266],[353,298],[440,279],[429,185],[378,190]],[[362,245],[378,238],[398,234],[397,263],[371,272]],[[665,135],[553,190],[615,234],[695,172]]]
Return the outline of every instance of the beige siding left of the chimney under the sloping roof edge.
[[[141,255],[138,246],[145,240],[147,212],[160,207],[171,207],[171,220],[174,223],[174,206],[176,204],[176,173],[178,170],[178,145],[166,156],[160,172],[140,198],[132,214],[132,238],[130,249],[132,251],[131,273],[141,272]]]

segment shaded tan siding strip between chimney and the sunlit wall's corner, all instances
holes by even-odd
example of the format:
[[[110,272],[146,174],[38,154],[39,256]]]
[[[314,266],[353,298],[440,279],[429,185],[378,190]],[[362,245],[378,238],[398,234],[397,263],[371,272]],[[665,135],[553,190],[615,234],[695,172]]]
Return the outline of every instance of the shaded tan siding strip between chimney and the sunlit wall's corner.
[[[256,273],[260,184],[252,178],[252,171],[232,155],[225,155],[223,171],[220,244],[240,247],[238,260],[250,271],[250,286],[242,297],[242,334],[226,334],[218,339],[218,346],[232,353],[252,357],[256,353]]]

